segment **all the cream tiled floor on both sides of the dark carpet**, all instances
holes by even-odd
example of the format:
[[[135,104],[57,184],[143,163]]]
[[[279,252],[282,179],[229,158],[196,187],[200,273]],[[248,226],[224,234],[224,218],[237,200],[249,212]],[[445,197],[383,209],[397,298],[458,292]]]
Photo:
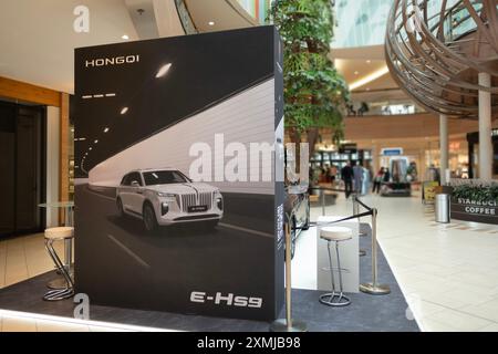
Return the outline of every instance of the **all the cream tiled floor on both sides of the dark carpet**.
[[[378,209],[378,241],[424,331],[498,332],[497,227],[436,223],[434,214],[415,197],[363,200]],[[328,215],[351,212],[352,202],[343,197],[326,208]],[[319,214],[321,208],[313,208],[312,219]],[[51,269],[42,235],[0,241],[0,288]],[[120,330],[1,313],[0,323],[2,331]]]

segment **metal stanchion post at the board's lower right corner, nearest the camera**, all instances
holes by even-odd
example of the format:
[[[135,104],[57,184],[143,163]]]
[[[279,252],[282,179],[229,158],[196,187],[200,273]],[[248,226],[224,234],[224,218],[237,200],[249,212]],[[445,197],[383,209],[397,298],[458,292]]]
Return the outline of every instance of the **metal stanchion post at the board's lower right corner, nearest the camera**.
[[[292,284],[291,284],[291,237],[289,223],[286,223],[286,319],[274,321],[270,325],[271,332],[307,332],[307,324],[292,320]]]

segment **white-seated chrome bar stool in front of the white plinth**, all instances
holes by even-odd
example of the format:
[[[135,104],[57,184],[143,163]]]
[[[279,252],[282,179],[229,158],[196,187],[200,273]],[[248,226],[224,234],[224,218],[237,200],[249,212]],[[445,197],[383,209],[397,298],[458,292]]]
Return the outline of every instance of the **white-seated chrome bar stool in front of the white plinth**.
[[[332,281],[332,292],[320,295],[320,303],[328,306],[347,306],[351,300],[343,294],[342,287],[342,269],[339,257],[339,242],[347,241],[353,238],[353,231],[344,227],[324,227],[320,230],[320,238],[326,241],[329,250],[330,275]],[[331,242],[335,242],[335,254],[338,257],[339,272],[339,293],[335,292],[334,268],[332,266],[332,253],[330,250]],[[336,301],[334,301],[336,299]]]

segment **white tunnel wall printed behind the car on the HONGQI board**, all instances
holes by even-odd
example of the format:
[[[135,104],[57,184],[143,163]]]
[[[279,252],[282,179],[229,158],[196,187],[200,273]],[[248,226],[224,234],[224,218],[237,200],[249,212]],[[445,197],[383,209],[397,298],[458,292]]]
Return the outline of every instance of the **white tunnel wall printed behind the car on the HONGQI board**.
[[[168,166],[188,175],[190,164],[197,159],[189,156],[190,146],[195,143],[206,143],[211,147],[211,180],[215,180],[216,167],[222,167],[221,164],[230,159],[215,163],[216,134],[224,134],[225,148],[232,142],[243,144],[248,152],[251,143],[273,146],[274,81],[249,88],[108,158],[90,171],[90,184],[114,187],[126,173],[141,168]],[[261,157],[262,168],[271,171],[271,181],[207,183],[226,192],[273,194],[272,157],[273,154],[270,158]],[[250,162],[249,156],[247,160]]]

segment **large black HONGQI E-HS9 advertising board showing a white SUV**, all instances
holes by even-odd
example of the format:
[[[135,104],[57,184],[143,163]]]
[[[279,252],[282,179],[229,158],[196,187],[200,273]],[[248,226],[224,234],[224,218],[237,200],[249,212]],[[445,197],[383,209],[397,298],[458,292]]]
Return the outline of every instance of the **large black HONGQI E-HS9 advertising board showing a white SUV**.
[[[75,51],[75,287],[92,304],[252,320],[283,304],[273,27]]]

